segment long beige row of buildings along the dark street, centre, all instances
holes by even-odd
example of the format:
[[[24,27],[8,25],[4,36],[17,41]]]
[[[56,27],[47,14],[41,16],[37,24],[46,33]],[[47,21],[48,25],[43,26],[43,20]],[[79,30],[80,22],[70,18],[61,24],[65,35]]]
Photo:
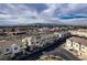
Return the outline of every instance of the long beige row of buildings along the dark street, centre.
[[[57,40],[58,35],[55,36],[53,34],[39,34],[39,35],[31,35],[22,40],[23,45],[25,48],[29,46],[30,50],[34,47],[43,47],[46,45],[52,44],[55,40]]]

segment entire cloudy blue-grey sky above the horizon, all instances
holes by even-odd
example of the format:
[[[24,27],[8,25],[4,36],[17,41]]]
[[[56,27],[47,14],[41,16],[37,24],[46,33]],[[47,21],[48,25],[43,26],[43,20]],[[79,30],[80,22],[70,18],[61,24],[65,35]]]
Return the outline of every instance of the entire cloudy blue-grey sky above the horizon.
[[[0,3],[0,25],[30,23],[87,25],[87,4]]]

